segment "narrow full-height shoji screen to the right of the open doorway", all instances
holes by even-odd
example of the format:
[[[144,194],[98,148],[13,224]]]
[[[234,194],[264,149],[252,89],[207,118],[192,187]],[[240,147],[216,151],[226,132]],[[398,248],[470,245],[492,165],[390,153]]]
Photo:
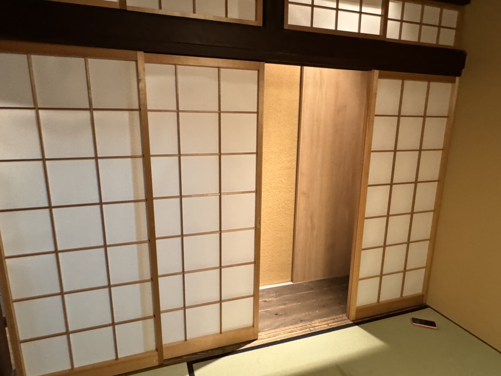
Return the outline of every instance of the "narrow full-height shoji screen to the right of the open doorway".
[[[455,101],[454,78],[375,76],[351,318],[424,302]]]

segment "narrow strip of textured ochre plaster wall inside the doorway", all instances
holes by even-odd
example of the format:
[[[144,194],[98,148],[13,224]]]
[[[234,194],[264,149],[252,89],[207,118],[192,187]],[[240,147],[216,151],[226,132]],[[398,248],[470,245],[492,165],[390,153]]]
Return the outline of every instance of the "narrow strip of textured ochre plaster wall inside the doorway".
[[[301,68],[265,65],[261,286],[289,282]]]

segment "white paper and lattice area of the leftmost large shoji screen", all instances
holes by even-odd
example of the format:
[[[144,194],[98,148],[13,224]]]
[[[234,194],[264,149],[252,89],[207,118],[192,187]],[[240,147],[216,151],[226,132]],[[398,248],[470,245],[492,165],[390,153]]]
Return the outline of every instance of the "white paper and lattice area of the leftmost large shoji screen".
[[[0,53],[0,232],[23,376],[156,347],[137,63],[86,56]]]

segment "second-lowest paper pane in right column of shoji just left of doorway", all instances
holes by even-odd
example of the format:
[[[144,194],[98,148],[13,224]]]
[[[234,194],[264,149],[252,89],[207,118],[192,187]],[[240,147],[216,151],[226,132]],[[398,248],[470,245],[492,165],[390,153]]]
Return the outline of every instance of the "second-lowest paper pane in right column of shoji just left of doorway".
[[[254,294],[254,265],[222,269],[222,299]]]

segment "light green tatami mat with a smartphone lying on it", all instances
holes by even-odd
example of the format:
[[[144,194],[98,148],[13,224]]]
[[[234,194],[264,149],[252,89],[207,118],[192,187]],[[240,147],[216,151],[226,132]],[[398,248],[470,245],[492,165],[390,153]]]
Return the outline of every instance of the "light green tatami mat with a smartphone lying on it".
[[[192,366],[194,376],[499,376],[501,354],[426,308]]]

